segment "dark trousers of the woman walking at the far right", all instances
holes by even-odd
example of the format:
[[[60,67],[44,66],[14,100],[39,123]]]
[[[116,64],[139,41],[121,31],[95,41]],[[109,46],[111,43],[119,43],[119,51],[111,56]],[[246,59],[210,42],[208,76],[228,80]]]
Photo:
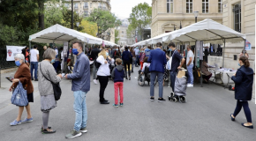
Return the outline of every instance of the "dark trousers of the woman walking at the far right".
[[[237,108],[235,109],[233,115],[236,117],[241,111],[242,107],[244,108],[247,122],[252,122],[252,115],[247,101],[237,100]]]

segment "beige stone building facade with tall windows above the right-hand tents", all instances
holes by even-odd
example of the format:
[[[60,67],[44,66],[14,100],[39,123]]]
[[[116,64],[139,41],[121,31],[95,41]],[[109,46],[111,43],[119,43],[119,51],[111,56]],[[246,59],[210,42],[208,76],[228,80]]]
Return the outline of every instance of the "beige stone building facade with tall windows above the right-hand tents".
[[[213,19],[222,24],[221,5],[222,0],[152,0],[151,36],[192,25],[193,11],[199,11],[197,21]]]

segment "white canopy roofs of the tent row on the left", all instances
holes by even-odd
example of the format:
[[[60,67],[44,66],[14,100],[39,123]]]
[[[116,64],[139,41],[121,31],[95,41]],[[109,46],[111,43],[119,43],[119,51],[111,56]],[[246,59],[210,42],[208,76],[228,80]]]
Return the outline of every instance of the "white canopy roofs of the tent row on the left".
[[[87,44],[102,44],[107,46],[117,46],[116,43],[104,41],[87,33],[80,33],[76,30],[66,28],[61,25],[50,26],[39,33],[34,33],[29,36],[28,41],[39,43],[58,43],[63,44],[64,41],[82,41]]]

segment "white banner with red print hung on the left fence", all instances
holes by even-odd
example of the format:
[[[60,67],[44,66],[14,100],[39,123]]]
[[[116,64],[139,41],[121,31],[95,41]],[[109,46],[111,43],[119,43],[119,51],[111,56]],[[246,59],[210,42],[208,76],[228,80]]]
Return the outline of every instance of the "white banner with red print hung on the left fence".
[[[14,61],[14,56],[17,54],[21,54],[21,50],[25,47],[20,47],[20,46],[6,46],[6,61]]]

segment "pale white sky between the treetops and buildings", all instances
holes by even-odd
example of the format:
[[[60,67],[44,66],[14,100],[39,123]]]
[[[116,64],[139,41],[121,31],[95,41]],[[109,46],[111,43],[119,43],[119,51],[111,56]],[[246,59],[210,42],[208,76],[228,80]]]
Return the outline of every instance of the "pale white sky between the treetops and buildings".
[[[132,7],[144,2],[150,6],[152,4],[152,0],[110,0],[111,12],[115,13],[119,19],[128,19],[132,13]]]

